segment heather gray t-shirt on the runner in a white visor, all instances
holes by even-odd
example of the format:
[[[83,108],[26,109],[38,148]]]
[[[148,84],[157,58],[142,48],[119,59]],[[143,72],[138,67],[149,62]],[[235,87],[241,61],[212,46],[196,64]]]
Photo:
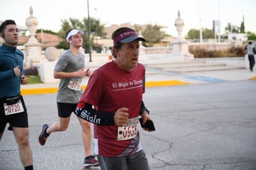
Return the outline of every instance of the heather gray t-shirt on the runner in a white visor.
[[[85,67],[85,57],[83,54],[79,53],[79,56],[75,56],[73,53],[71,53],[70,49],[67,49],[67,51],[65,51],[59,57],[54,70],[59,72],[75,72],[83,67]],[[69,87],[69,84],[74,84],[75,82],[82,83],[82,77],[61,79],[59,82],[57,102],[74,104],[79,103],[79,100],[83,94],[82,87],[80,90],[74,90]]]

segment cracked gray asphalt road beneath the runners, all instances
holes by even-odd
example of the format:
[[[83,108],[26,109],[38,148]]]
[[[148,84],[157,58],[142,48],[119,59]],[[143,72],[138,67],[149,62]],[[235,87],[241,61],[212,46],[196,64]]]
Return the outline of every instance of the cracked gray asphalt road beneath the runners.
[[[58,121],[56,94],[26,95],[24,100],[35,169],[83,169],[75,115],[66,132],[51,134],[41,147],[42,125]],[[256,169],[255,80],[151,87],[143,100],[156,127],[155,132],[140,129],[151,169]],[[9,130],[0,151],[0,169],[23,169]]]

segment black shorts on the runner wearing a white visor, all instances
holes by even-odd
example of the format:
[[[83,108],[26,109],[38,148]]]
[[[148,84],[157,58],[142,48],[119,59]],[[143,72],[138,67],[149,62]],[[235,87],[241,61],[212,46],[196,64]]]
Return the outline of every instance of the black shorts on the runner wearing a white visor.
[[[77,104],[57,102],[57,107],[58,107],[59,117],[67,118],[72,114],[72,112],[75,112],[75,108],[77,108]]]

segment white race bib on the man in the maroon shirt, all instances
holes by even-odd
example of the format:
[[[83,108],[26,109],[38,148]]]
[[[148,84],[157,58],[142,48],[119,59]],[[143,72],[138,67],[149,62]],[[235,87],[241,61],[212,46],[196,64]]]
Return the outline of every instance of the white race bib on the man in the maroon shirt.
[[[139,129],[139,116],[129,119],[127,124],[117,129],[117,140],[128,140],[134,138]]]

